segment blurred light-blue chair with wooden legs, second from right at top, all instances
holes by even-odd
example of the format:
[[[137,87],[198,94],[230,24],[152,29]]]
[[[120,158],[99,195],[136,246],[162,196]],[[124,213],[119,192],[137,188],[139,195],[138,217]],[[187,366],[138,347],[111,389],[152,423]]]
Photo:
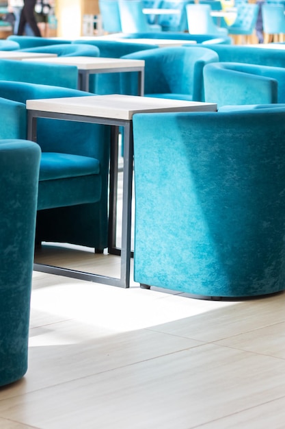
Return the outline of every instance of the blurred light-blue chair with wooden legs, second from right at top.
[[[253,3],[238,3],[236,5],[236,20],[232,25],[223,25],[228,34],[235,36],[236,44],[256,42],[254,31],[258,18],[258,5]]]

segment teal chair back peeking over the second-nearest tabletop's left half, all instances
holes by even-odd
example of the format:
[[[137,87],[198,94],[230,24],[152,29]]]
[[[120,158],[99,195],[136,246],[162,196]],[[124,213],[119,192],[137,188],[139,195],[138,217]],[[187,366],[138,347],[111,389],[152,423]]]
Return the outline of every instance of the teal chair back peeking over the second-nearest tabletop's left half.
[[[63,43],[62,45],[48,45],[21,49],[21,52],[56,53],[59,57],[98,57],[100,51],[97,47]]]

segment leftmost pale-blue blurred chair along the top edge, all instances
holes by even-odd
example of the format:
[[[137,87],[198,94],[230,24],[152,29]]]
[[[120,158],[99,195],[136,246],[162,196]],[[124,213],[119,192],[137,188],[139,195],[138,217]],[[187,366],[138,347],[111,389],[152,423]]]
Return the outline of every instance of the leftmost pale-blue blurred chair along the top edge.
[[[118,0],[99,0],[102,26],[105,32],[122,32]]]

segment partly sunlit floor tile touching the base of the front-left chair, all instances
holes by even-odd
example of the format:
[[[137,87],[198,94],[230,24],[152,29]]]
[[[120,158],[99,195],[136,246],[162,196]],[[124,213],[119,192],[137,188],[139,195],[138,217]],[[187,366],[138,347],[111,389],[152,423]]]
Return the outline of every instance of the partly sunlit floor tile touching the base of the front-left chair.
[[[0,400],[201,344],[150,330],[113,334],[95,323],[79,321],[34,328],[25,380],[0,390]]]

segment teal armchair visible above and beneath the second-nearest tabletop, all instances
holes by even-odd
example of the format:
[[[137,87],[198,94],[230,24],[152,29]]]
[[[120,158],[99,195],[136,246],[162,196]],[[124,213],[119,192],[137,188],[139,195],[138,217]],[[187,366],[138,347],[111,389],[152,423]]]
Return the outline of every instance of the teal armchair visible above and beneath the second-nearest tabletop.
[[[106,0],[109,1],[109,0]],[[128,53],[144,51],[146,49],[158,48],[157,45],[147,45],[145,43],[120,42],[118,40],[74,40],[74,43],[88,43],[96,46],[100,50],[100,57],[103,58],[121,58]],[[124,73],[125,79],[131,75]],[[120,73],[103,73],[98,75],[90,75],[89,79],[90,93],[104,94],[122,94],[120,85]]]

